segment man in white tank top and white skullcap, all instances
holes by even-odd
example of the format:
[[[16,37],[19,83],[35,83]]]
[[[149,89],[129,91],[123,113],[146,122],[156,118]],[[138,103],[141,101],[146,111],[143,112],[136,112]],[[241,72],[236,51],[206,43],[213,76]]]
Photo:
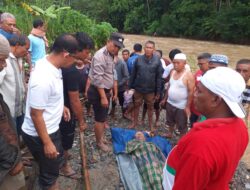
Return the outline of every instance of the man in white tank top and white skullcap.
[[[166,125],[169,130],[166,137],[171,138],[175,124],[180,135],[187,132],[187,118],[190,117],[190,106],[194,93],[194,76],[190,70],[185,68],[186,55],[178,53],[174,56],[174,70],[170,74],[169,87],[162,104],[166,105]]]

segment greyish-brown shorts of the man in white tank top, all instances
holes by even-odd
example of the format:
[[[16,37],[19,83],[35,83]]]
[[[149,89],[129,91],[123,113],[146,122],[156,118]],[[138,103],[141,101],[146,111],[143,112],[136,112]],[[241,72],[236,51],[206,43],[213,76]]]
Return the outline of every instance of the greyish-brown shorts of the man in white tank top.
[[[166,105],[166,125],[174,127],[177,125],[181,134],[187,132],[187,115],[184,109],[179,109],[167,102]]]

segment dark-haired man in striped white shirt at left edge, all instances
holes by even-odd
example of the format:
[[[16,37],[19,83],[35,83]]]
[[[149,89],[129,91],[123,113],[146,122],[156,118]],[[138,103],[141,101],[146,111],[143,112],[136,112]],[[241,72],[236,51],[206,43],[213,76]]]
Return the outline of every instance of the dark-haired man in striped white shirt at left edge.
[[[13,36],[9,43],[11,52],[6,59],[7,66],[0,73],[0,93],[10,109],[17,133],[21,135],[25,103],[23,58],[27,55],[30,43],[24,35]]]

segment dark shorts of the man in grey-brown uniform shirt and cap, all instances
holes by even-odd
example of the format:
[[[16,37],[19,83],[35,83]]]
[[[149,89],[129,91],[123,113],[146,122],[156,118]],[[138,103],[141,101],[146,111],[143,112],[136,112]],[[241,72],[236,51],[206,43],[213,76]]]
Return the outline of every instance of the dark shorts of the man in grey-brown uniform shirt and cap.
[[[108,102],[110,101],[110,90],[104,89],[106,97],[108,99]],[[108,108],[104,108],[101,105],[101,98],[99,95],[99,92],[97,91],[97,88],[93,85],[90,85],[88,90],[88,100],[93,105],[94,115],[95,115],[95,121],[103,123],[107,120],[108,117]]]

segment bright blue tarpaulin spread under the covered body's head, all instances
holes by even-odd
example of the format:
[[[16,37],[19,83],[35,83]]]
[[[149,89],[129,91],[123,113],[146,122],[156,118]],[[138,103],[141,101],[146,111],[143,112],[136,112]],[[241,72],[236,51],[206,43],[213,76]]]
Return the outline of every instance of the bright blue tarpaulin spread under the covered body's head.
[[[127,142],[134,139],[136,132],[138,131],[133,129],[111,128],[114,153],[124,153]],[[162,151],[165,157],[168,156],[172,146],[167,139],[160,136],[150,137],[147,133],[144,133],[144,135],[147,142],[154,143]]]

